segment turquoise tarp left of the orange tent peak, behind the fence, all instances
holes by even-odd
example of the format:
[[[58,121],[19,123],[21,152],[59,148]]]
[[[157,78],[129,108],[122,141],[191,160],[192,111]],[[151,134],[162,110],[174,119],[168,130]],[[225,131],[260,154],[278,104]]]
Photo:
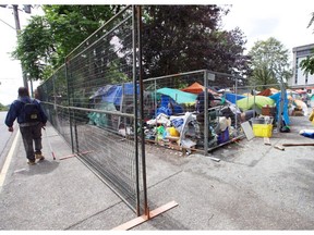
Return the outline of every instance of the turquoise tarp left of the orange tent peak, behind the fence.
[[[160,88],[157,90],[157,94],[162,94],[171,97],[177,103],[195,103],[196,95],[184,92],[179,89],[171,89],[168,87]]]

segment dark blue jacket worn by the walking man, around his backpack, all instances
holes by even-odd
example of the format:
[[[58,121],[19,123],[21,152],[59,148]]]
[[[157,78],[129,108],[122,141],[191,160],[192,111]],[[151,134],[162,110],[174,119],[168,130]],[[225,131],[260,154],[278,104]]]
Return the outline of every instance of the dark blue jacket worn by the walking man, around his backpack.
[[[24,104],[27,102],[33,102],[39,107],[40,120],[44,124],[46,124],[47,116],[46,116],[40,103],[36,99],[31,99],[29,97],[21,97],[20,99],[14,100],[10,106],[9,112],[8,112],[7,118],[5,118],[5,125],[8,127],[13,126],[13,123],[14,123],[16,118],[17,118],[19,124],[26,123],[26,121],[24,120],[24,115],[22,115],[22,109],[23,109]]]

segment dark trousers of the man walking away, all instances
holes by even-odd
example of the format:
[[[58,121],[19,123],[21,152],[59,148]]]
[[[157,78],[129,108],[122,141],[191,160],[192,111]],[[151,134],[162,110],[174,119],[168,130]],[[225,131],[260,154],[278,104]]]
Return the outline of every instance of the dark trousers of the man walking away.
[[[26,158],[31,161],[35,160],[35,153],[41,154],[41,123],[34,123],[29,126],[20,125],[20,132],[22,134]],[[33,141],[35,145],[35,151]]]

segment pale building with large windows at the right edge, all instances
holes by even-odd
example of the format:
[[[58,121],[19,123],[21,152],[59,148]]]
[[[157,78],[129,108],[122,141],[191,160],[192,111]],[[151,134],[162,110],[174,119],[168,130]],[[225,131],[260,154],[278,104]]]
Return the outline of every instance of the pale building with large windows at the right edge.
[[[303,89],[314,94],[314,74],[304,73],[300,63],[309,55],[314,54],[314,44],[295,47],[293,52],[292,78],[288,82],[291,89]]]

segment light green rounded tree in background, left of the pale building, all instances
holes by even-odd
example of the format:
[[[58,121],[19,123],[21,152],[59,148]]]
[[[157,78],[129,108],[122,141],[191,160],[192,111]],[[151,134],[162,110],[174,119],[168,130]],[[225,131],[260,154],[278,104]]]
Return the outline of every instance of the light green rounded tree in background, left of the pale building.
[[[289,52],[276,38],[258,40],[250,50],[251,84],[267,85],[267,83],[287,82],[292,76],[289,69]]]

